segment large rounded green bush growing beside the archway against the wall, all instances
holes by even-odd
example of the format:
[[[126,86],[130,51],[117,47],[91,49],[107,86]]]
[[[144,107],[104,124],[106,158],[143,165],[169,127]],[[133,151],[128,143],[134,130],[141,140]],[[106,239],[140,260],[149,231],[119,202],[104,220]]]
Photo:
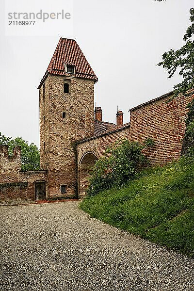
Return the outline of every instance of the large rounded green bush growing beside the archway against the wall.
[[[135,175],[137,168],[147,162],[142,154],[143,146],[138,142],[123,141],[108,147],[105,156],[100,158],[91,171],[88,195],[96,195],[113,185],[120,187]]]

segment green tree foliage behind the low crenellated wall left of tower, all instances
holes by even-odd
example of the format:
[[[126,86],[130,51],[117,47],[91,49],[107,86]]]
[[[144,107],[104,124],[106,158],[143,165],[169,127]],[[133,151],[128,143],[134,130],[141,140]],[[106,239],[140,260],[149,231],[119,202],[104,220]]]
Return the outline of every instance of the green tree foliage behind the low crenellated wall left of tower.
[[[13,154],[15,146],[21,146],[21,170],[27,171],[40,169],[40,153],[37,146],[33,143],[28,145],[28,142],[24,141],[21,137],[11,139],[0,133],[0,144],[8,145],[9,155]]]

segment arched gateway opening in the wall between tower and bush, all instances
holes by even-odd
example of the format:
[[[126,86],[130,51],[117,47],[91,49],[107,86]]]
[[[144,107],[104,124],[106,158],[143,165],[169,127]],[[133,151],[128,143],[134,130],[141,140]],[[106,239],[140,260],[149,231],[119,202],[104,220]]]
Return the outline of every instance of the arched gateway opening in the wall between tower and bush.
[[[94,167],[97,157],[92,152],[85,153],[80,162],[80,196],[86,195],[86,189],[89,185],[88,177],[89,173]]]

